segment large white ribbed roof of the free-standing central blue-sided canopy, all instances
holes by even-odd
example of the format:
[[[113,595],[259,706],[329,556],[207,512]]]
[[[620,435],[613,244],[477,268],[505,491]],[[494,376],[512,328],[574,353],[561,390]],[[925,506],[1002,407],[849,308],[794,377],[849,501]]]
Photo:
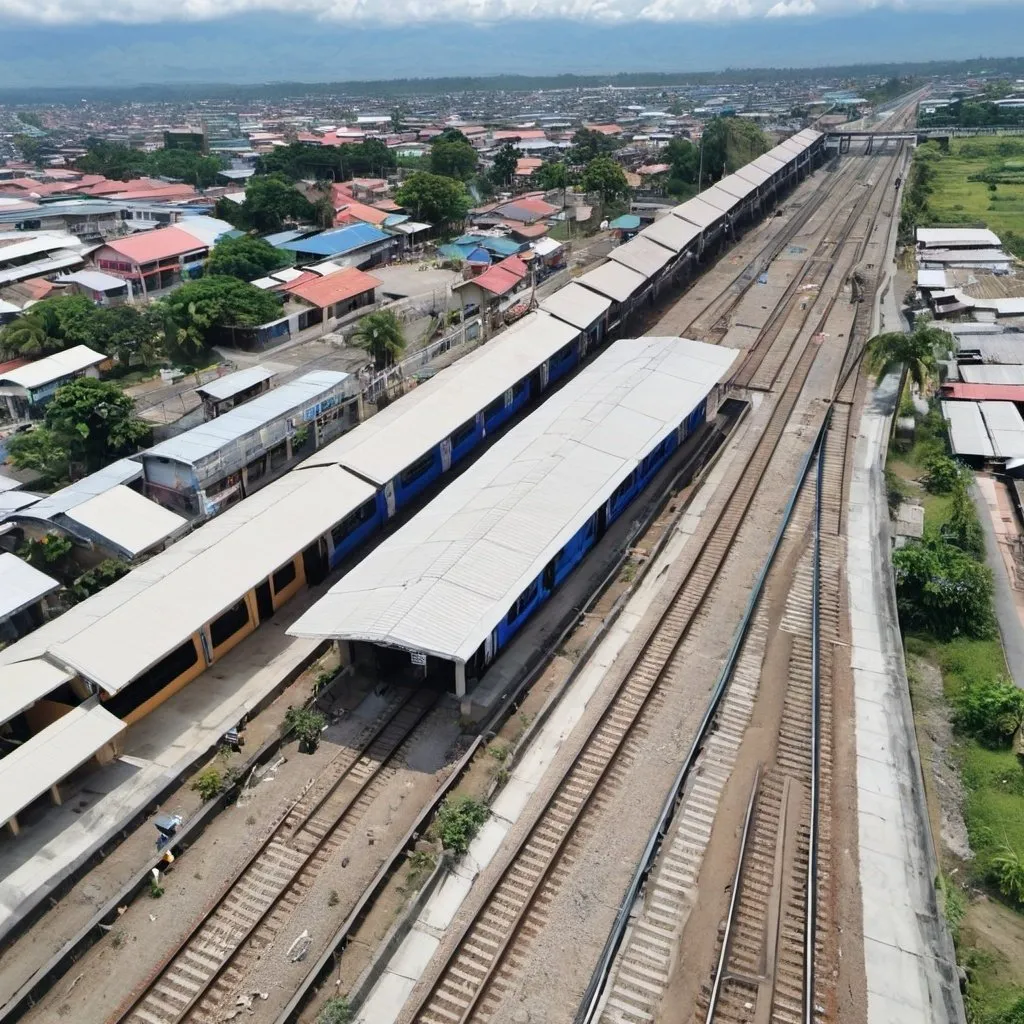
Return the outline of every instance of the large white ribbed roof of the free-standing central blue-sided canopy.
[[[736,355],[680,338],[615,342],[371,552],[289,633],[465,662]]]

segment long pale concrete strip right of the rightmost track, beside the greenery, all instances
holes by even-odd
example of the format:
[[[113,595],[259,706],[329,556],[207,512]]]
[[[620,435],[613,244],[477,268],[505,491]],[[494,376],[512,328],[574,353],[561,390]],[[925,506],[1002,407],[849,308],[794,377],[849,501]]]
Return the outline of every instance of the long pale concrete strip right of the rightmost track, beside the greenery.
[[[890,564],[885,466],[898,377],[861,416],[850,486],[857,814],[868,1024],[961,1024]]]

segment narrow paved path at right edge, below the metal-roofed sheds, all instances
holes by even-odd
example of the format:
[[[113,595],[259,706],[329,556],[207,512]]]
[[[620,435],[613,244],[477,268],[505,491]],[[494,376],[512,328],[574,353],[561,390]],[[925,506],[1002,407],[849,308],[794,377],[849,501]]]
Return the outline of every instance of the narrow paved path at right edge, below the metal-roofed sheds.
[[[985,563],[992,570],[995,585],[992,603],[1002,638],[1002,652],[1011,678],[1024,690],[1024,594],[1015,590],[1010,582],[1013,554],[1009,544],[1016,536],[1014,510],[1006,486],[987,474],[975,476],[971,498],[985,535]],[[1004,516],[1010,517],[1012,528],[1007,527]]]

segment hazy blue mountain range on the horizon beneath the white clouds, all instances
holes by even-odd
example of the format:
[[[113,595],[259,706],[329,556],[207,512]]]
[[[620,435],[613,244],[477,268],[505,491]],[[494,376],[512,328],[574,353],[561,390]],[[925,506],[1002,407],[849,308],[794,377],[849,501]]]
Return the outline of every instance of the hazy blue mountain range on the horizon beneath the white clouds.
[[[45,98],[49,89],[106,87],[123,94],[142,83],[600,76],[935,59],[975,65],[980,53],[1009,56],[1015,48],[1024,49],[1024,4],[969,6],[963,13],[936,5],[841,17],[614,27],[524,18],[485,26],[434,22],[374,28],[316,20],[299,11],[157,25],[5,22],[0,90],[8,100],[27,101]],[[977,58],[975,70],[984,67],[985,60]]]

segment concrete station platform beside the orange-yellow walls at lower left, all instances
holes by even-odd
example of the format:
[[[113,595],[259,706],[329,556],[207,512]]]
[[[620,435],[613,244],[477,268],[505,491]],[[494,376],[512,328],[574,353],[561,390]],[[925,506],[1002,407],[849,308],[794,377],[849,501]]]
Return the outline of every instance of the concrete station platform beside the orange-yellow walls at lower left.
[[[324,646],[285,629],[325,588],[294,602],[203,676],[130,726],[113,763],[60,786],[61,805],[29,811],[0,836],[0,937],[120,831],[148,813],[228,729],[268,703]],[[170,808],[173,810],[173,808]],[[154,841],[156,833],[154,833]]]

